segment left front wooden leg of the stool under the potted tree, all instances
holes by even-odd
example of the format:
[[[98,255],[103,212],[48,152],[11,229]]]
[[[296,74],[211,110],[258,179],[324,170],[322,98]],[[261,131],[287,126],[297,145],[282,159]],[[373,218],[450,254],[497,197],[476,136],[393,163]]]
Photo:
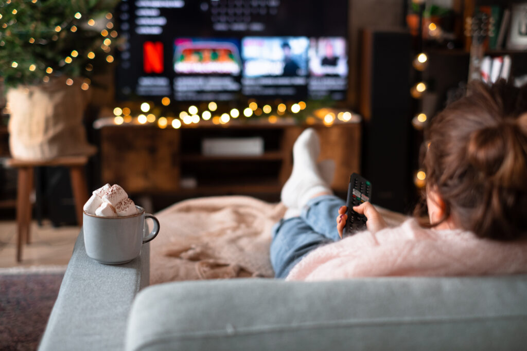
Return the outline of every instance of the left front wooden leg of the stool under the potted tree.
[[[27,212],[30,204],[30,167],[18,168],[18,184],[17,184],[17,199],[16,199],[16,224],[17,224],[17,238],[16,238],[16,260],[22,260],[22,242],[29,232],[30,223],[27,222]],[[30,216],[31,216],[31,211]]]

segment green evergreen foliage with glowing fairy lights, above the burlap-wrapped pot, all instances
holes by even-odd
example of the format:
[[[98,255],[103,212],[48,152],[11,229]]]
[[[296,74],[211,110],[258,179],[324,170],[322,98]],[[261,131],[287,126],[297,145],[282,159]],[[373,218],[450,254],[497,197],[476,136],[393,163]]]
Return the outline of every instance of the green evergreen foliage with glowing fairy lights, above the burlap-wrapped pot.
[[[113,62],[118,0],[6,0],[0,3],[0,77],[6,87],[82,77]]]

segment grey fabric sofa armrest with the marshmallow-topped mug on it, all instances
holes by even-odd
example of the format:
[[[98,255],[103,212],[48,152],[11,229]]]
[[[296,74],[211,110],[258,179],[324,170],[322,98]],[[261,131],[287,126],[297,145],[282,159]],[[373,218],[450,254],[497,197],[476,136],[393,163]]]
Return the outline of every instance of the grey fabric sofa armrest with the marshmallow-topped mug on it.
[[[149,284],[150,247],[129,263],[86,255],[81,230],[39,350],[120,350],[135,295]]]

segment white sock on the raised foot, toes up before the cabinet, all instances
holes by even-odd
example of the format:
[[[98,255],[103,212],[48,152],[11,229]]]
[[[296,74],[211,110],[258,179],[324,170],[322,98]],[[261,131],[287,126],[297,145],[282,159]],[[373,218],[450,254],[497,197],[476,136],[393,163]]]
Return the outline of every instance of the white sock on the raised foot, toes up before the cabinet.
[[[289,208],[301,208],[318,193],[331,193],[329,185],[320,175],[317,158],[320,141],[313,128],[308,128],[296,139],[293,146],[293,170],[280,194]]]

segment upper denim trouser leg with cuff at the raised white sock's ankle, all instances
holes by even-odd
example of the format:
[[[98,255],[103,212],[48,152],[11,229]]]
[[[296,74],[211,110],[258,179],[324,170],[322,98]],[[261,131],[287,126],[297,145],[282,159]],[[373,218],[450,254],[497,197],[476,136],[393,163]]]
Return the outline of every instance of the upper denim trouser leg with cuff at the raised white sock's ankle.
[[[336,218],[340,206],[345,206],[346,202],[335,195],[322,195],[310,199],[306,206],[302,208],[300,217],[315,232],[325,237],[337,241],[340,240],[337,232]]]

